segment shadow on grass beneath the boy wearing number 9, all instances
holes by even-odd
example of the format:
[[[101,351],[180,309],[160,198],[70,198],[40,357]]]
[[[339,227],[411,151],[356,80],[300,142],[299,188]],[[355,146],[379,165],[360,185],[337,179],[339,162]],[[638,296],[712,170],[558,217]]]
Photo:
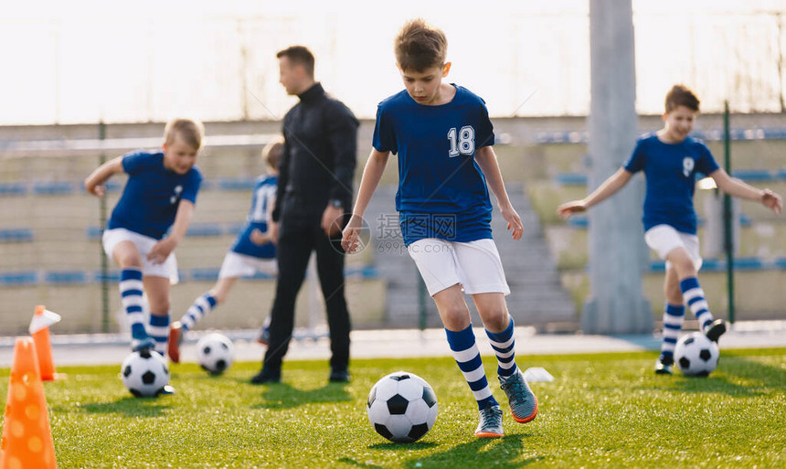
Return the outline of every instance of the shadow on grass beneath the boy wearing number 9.
[[[755,398],[786,388],[786,370],[765,365],[750,357],[721,357],[718,368],[706,378],[688,377],[674,370],[674,377],[661,387],[646,389],[679,390],[683,392],[721,392],[729,396]],[[746,384],[738,384],[738,380]]]

